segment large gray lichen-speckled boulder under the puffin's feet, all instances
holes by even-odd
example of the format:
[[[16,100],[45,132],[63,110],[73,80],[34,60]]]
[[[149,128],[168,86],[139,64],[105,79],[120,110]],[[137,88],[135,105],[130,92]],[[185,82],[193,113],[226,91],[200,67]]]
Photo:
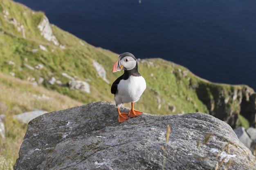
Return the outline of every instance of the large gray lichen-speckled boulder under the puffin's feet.
[[[165,169],[215,169],[217,162],[219,170],[256,167],[231,127],[208,114],[143,113],[120,124],[115,102],[92,102],[30,121],[14,170],[162,169],[167,124]]]

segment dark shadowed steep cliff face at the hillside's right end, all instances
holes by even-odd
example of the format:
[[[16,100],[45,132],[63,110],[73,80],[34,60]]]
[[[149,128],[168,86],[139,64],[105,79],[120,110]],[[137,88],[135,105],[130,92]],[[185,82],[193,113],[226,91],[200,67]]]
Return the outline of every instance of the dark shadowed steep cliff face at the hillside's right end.
[[[209,114],[227,122],[232,128],[239,124],[242,115],[249,126],[256,127],[256,93],[246,85],[225,85],[199,82],[198,98],[207,106]]]

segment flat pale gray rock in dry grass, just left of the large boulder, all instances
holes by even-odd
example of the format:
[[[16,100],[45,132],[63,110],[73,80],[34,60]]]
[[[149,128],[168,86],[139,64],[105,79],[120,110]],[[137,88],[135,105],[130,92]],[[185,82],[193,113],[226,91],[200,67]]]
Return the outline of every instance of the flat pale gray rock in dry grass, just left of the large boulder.
[[[14,115],[14,118],[19,119],[21,122],[27,124],[29,121],[31,121],[32,119],[43,115],[45,113],[47,113],[48,111],[45,110],[40,110],[40,109],[34,109],[34,111],[28,111],[28,112],[24,112],[18,115]]]

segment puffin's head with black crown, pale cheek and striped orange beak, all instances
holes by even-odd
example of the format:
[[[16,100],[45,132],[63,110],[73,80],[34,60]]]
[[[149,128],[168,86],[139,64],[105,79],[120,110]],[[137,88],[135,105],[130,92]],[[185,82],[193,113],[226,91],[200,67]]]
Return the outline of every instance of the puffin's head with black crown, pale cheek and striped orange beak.
[[[112,73],[121,70],[132,70],[137,65],[137,59],[130,52],[124,52],[119,55],[118,60],[115,62]]]

